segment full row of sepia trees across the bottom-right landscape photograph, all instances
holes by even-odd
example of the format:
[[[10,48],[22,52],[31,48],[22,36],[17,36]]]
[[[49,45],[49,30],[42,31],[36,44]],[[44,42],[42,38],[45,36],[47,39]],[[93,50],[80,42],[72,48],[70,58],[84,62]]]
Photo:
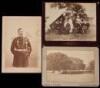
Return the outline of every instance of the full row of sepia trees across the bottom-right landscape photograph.
[[[94,60],[86,68],[80,58],[69,57],[63,53],[55,52],[47,55],[47,70],[90,70],[94,71]]]

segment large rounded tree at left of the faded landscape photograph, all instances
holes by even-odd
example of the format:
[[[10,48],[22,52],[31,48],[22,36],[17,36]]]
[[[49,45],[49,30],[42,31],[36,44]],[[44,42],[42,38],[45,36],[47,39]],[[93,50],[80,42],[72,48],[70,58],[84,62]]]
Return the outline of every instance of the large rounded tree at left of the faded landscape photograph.
[[[47,69],[48,70],[62,70],[69,69],[72,61],[63,53],[56,52],[47,55]]]

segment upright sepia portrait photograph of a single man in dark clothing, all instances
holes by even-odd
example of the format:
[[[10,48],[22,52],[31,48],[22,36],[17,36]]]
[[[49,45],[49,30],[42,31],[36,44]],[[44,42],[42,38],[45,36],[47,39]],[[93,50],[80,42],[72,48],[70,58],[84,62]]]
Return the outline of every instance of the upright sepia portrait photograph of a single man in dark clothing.
[[[41,17],[2,17],[2,73],[41,72]]]

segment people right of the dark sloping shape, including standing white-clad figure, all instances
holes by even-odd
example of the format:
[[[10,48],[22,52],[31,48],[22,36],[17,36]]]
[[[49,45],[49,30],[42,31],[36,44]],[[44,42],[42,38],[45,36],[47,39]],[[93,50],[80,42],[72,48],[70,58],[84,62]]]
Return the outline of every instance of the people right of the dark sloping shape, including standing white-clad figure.
[[[89,23],[81,19],[79,16],[76,18],[67,18],[64,22],[64,28],[67,30],[68,33],[87,33],[89,29]]]

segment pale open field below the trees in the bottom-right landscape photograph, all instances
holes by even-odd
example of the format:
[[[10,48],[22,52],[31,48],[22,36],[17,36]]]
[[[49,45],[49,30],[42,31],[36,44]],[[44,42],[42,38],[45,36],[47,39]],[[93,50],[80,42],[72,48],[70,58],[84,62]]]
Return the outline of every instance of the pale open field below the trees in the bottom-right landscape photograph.
[[[94,74],[84,73],[84,74],[60,74],[47,72],[46,78],[48,82],[94,82]]]

